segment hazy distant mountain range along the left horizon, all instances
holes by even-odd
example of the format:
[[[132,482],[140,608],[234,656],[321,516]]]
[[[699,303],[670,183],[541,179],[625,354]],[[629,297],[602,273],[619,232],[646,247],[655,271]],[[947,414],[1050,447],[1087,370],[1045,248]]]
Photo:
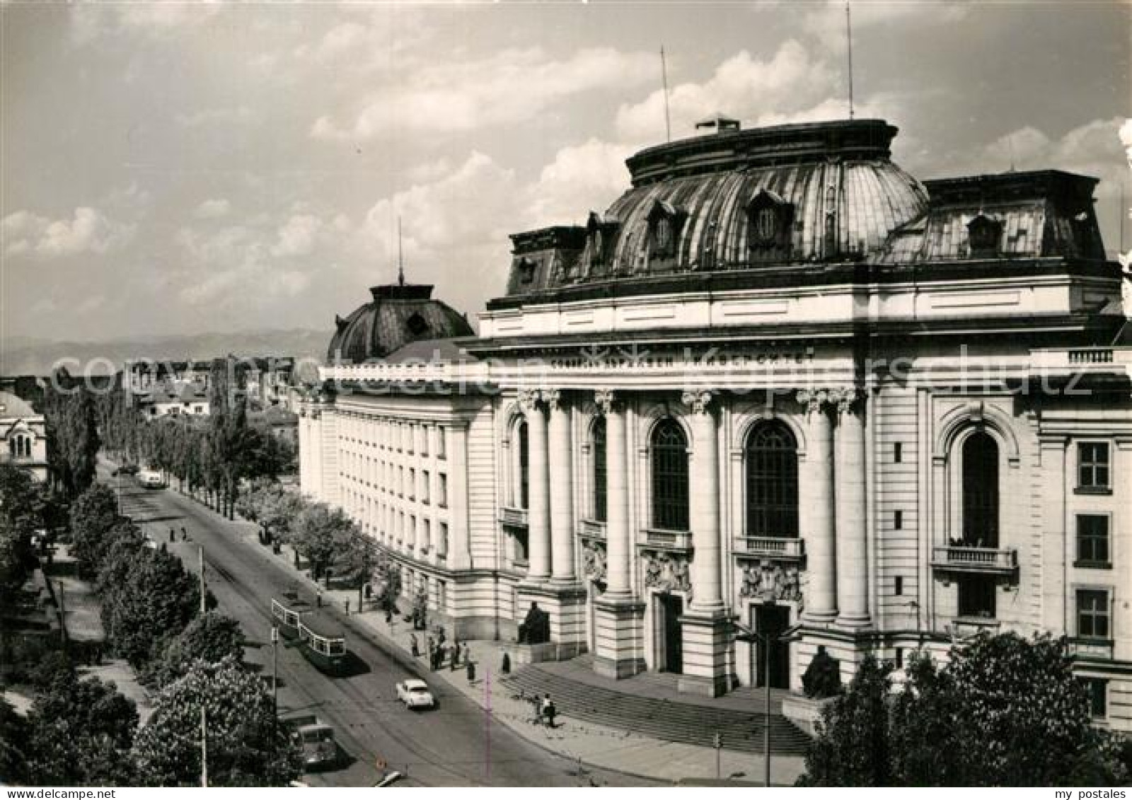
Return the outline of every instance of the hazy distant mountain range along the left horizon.
[[[329,330],[250,330],[238,333],[204,333],[149,338],[117,338],[103,342],[55,342],[53,339],[11,336],[0,339],[0,376],[46,376],[57,364],[72,373],[82,373],[91,364],[93,373],[117,371],[130,359],[213,359],[228,355],[326,358]],[[71,359],[65,362],[63,359]],[[76,364],[77,360],[77,364]],[[110,370],[104,360],[114,364]]]

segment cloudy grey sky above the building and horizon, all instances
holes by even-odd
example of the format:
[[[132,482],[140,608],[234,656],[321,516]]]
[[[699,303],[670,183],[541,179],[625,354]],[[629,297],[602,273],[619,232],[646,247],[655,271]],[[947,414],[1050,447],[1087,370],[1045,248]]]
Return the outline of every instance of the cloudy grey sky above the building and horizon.
[[[852,6],[858,118],[920,179],[1101,179],[1132,6]],[[847,117],[843,2],[0,5],[0,337],[326,328],[396,277],[474,315],[508,234],[582,223],[713,112]],[[1132,188],[1126,189],[1132,201]],[[1132,235],[1130,225],[1129,235]]]

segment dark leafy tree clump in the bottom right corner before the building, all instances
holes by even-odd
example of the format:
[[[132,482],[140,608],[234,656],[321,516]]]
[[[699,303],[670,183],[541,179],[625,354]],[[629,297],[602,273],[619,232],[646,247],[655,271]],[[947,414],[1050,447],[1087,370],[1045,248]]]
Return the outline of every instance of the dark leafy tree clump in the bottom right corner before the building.
[[[1063,639],[980,634],[936,669],[915,657],[900,695],[863,662],[823,714],[803,785],[1123,785],[1124,743],[1091,725]]]

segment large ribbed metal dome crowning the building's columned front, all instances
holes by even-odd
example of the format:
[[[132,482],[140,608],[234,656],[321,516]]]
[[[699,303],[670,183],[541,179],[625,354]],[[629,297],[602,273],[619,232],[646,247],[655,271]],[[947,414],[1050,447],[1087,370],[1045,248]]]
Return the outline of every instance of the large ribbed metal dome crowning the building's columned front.
[[[711,124],[631,157],[632,188],[584,229],[513,236],[508,294],[863,260],[927,210],[924,187],[890,160],[897,129],[884,120]]]

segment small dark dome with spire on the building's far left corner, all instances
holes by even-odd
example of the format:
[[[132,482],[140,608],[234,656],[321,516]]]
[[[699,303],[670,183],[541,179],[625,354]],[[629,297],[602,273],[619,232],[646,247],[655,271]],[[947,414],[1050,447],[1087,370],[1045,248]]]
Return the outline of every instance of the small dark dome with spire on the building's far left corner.
[[[374,301],[349,317],[336,317],[326,358],[361,363],[384,359],[411,342],[473,335],[468,319],[447,303],[432,300],[432,286],[389,284],[369,290]]]

